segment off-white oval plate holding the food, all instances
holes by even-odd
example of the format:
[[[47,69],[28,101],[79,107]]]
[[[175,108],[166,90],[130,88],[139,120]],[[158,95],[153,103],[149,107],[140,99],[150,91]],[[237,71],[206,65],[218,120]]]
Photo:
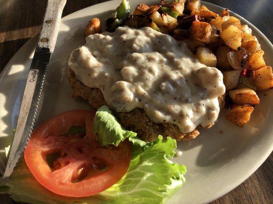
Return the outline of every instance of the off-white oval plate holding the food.
[[[159,0],[131,1],[131,8],[140,2],[153,4]],[[113,14],[110,8],[115,9],[119,3],[120,0],[115,0],[98,4],[62,18],[37,123],[67,110],[90,108],[86,101],[71,97],[72,91],[66,79],[67,57],[73,49],[84,44],[82,34],[89,19],[99,17],[104,22]],[[203,5],[221,13],[222,8],[219,6],[205,2]],[[234,13],[232,15],[253,29],[253,34],[265,51],[266,64],[273,65],[273,46],[269,40],[251,23]],[[37,37],[34,37],[20,48],[0,76],[0,163],[6,162],[4,147],[12,140],[12,129],[16,125],[36,42]],[[261,92],[259,96],[261,103],[255,107],[250,122],[243,128],[225,120],[224,110],[212,129],[202,130],[200,136],[192,141],[178,142],[178,149],[183,154],[174,161],[186,165],[187,181],[168,203],[213,201],[241,184],[265,161],[273,149],[273,93],[269,90]],[[3,171],[3,166],[1,169]]]

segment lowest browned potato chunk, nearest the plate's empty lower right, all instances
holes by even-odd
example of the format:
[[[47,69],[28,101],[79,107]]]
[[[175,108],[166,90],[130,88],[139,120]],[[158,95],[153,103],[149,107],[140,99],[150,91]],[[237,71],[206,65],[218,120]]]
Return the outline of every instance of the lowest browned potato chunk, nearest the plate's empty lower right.
[[[251,106],[236,105],[229,111],[225,118],[242,127],[250,120],[250,114],[253,112],[253,110],[254,108]]]

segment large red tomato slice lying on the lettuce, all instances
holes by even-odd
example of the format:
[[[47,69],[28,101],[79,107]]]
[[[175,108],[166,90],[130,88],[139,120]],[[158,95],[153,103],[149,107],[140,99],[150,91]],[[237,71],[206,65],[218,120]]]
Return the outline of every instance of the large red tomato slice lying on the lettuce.
[[[69,197],[90,196],[111,187],[127,172],[130,142],[100,146],[93,131],[94,117],[95,111],[68,111],[33,131],[25,160],[45,188]],[[83,133],[69,133],[75,126]]]

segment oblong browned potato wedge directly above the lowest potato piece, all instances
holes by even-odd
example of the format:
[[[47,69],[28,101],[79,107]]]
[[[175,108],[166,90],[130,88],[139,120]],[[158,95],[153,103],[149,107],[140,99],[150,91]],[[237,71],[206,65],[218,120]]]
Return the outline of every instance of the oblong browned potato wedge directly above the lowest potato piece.
[[[228,91],[228,95],[235,104],[238,105],[257,105],[260,99],[256,92],[249,88],[235,89]]]

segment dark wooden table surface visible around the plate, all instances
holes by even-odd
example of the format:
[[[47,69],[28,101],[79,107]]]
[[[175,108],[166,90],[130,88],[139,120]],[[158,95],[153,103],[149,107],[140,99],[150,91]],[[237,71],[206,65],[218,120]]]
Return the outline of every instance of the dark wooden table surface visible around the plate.
[[[133,1],[133,0],[131,0]],[[67,0],[62,16],[105,0]],[[273,41],[272,0],[208,0],[241,15]],[[39,33],[46,0],[0,0],[0,73],[17,50]],[[273,203],[273,154],[244,183],[213,204]],[[16,203],[8,195],[0,195],[0,203]]]

